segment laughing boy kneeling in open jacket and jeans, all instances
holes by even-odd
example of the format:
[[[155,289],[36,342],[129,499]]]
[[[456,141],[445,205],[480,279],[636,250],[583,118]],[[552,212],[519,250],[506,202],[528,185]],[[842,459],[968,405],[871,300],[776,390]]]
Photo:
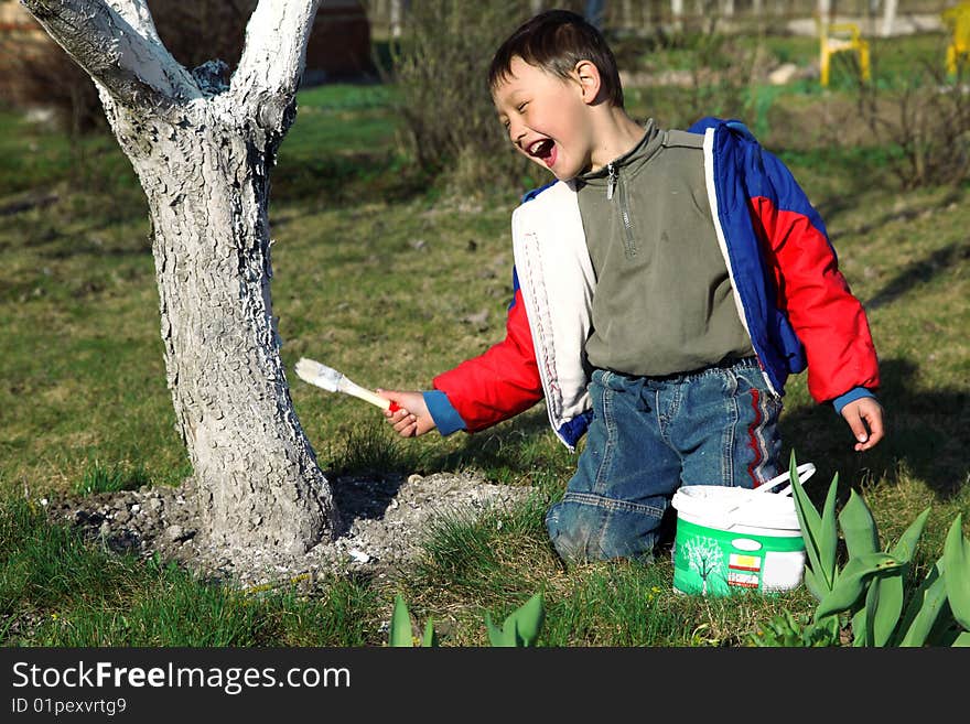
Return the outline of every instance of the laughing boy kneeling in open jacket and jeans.
[[[545,397],[570,449],[589,433],[546,517],[567,561],[649,560],[680,485],[777,475],[780,396],[806,365],[855,450],[882,439],[862,305],[818,214],[743,126],[639,126],[602,35],[565,11],[520,26],[489,86],[513,144],[557,181],[513,215],[505,341],[431,391],[382,392],[403,408],[387,413],[399,434],[475,432]]]

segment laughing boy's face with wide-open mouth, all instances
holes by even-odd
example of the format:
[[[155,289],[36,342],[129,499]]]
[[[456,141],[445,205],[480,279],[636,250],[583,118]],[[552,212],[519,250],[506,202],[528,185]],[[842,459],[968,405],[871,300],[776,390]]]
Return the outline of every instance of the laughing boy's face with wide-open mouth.
[[[498,119],[525,156],[567,181],[589,171],[593,136],[588,89],[520,57],[493,93]]]

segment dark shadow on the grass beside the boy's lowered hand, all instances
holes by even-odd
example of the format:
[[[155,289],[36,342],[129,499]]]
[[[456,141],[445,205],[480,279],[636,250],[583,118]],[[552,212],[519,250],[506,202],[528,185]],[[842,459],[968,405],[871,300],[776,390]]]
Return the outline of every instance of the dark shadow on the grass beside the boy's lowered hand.
[[[810,406],[782,418],[783,439],[799,461],[813,462],[823,496],[831,475],[850,485],[885,476],[896,482],[915,476],[940,500],[960,493],[970,479],[970,395],[958,389],[925,390],[915,380],[917,366],[906,359],[880,363],[879,399],[886,413],[886,437],[871,451],[856,453],[845,422],[831,406]]]

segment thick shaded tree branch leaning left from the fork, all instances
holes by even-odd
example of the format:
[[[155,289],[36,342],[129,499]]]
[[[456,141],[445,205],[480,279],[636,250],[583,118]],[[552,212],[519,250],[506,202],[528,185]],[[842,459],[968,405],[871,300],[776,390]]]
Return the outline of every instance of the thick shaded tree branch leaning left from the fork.
[[[21,0],[47,34],[126,106],[201,97],[165,50],[144,0]],[[132,24],[133,23],[133,24]]]

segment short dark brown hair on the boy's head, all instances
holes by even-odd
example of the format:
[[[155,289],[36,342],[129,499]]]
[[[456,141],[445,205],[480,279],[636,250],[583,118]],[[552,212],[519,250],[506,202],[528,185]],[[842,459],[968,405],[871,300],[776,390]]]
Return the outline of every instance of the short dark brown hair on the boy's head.
[[[580,61],[590,61],[600,71],[603,90],[617,108],[623,108],[623,87],[616,58],[599,30],[582,15],[568,10],[547,10],[519,25],[495,52],[488,68],[492,90],[511,75],[513,58],[569,79]]]

